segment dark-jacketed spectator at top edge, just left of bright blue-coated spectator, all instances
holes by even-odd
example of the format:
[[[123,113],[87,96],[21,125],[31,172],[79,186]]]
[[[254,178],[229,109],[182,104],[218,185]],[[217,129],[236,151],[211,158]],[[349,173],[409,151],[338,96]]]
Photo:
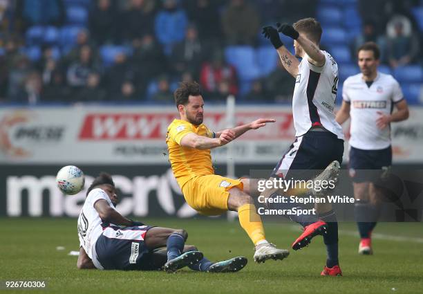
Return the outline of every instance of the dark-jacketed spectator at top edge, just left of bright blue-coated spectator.
[[[122,12],[120,33],[125,41],[141,42],[145,35],[154,34],[155,1],[131,0],[129,9]]]

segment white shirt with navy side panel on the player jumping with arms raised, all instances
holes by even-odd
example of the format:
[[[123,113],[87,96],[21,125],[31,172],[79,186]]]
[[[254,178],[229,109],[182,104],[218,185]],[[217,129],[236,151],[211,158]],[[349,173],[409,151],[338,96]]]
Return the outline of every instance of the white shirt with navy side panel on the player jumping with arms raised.
[[[295,136],[303,136],[312,126],[321,126],[344,139],[344,132],[335,120],[335,100],[338,88],[338,65],[326,51],[326,62],[315,66],[305,55],[298,66],[292,97]]]

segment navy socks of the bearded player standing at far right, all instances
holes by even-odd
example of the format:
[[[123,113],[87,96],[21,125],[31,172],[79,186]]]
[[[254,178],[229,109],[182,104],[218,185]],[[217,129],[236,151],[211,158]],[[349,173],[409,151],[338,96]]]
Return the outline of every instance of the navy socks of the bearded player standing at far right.
[[[380,206],[370,203],[355,203],[354,215],[361,238],[369,238],[370,232],[376,226],[379,218]]]

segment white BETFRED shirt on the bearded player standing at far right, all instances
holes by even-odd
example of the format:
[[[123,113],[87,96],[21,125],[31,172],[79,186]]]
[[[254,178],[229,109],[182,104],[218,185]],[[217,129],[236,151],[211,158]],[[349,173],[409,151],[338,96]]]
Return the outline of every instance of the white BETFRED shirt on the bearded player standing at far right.
[[[390,114],[404,95],[392,75],[377,72],[370,87],[362,77],[361,73],[348,77],[342,91],[342,98],[351,105],[350,145],[364,150],[385,149],[391,145],[391,127],[377,127],[377,112]]]

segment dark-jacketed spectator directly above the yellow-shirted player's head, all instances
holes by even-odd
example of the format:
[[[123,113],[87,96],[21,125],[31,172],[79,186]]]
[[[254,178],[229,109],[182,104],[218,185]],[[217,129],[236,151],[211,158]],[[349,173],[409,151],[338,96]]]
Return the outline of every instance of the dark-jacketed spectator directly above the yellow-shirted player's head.
[[[185,71],[198,75],[199,66],[203,61],[203,51],[195,26],[188,26],[185,39],[173,47],[171,60],[173,71],[177,75]]]

